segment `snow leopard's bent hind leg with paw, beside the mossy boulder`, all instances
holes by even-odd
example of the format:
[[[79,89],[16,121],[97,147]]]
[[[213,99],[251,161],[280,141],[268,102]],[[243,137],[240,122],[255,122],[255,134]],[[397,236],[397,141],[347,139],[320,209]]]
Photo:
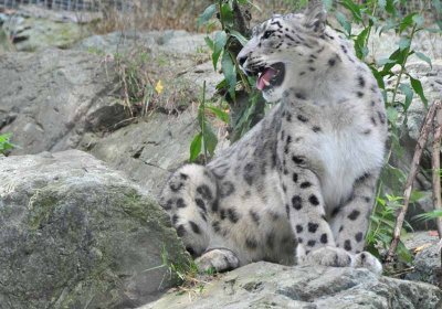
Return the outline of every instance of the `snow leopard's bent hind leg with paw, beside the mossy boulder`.
[[[186,249],[201,271],[224,271],[240,266],[236,254],[221,245],[210,247],[211,213],[218,210],[218,182],[207,168],[187,164],[178,169],[161,192],[160,204],[168,212]]]

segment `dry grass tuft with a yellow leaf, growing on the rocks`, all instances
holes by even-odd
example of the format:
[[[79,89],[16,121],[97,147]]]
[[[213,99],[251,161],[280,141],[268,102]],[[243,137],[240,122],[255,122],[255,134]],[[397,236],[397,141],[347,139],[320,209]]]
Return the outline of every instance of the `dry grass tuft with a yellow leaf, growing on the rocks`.
[[[180,72],[199,64],[200,57],[204,62],[209,60],[202,54],[190,56],[185,62],[173,55],[150,52],[144,46],[112,56],[119,78],[122,104],[131,118],[146,116],[152,110],[175,114],[196,103],[199,89],[190,87],[190,82],[180,76]]]

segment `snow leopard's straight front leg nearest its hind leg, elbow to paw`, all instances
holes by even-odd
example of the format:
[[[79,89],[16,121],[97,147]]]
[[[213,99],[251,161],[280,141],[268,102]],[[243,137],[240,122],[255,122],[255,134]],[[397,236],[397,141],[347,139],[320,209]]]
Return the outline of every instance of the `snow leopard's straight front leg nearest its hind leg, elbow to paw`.
[[[284,158],[281,174],[285,209],[297,241],[297,263],[351,266],[351,256],[336,247],[325,216],[319,180],[312,170],[302,166],[304,160],[295,154]]]

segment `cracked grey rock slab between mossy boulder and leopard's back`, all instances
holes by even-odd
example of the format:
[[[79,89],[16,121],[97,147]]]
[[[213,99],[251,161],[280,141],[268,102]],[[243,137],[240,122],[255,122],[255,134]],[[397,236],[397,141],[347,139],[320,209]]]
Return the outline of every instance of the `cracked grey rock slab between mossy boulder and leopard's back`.
[[[170,172],[189,159],[197,115],[155,113],[106,137],[86,135],[81,147],[158,195]]]

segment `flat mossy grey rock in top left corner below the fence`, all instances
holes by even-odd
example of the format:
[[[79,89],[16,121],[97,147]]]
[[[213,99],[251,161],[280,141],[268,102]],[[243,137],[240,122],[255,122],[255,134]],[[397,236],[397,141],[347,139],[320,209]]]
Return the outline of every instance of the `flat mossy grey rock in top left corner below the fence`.
[[[66,49],[90,32],[75,22],[60,22],[33,17],[11,15],[3,25],[18,51],[34,52],[48,47]]]

